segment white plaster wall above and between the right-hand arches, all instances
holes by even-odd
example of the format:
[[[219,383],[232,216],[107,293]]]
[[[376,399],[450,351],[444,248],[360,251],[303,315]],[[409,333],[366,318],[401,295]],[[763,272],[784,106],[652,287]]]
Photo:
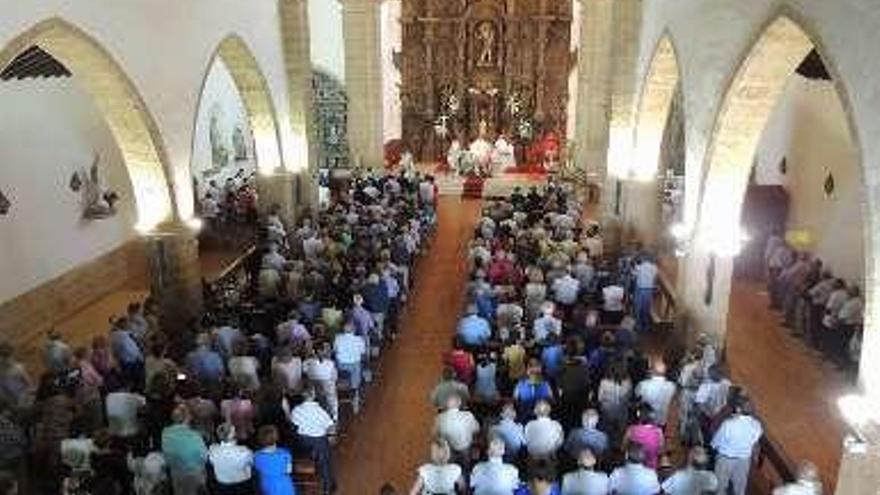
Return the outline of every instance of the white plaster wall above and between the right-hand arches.
[[[872,233],[880,232],[880,216],[873,213],[880,198],[877,173],[880,170],[880,119],[876,118],[880,114],[880,91],[876,86],[880,73],[880,59],[876,57],[876,47],[880,46],[880,9],[876,1],[644,0],[643,6],[638,91],[641,91],[652,49],[664,32],[670,33],[678,49],[686,112],[687,221],[696,219],[700,184],[705,173],[703,164],[723,95],[742,58],[785,6],[787,12],[817,38],[832,71],[839,76],[838,83],[845,88],[860,144],[867,193],[864,211],[870,212],[864,242],[869,243]],[[679,280],[683,286],[680,289],[694,327],[723,334],[730,265],[729,259],[720,260],[716,272],[716,302],[707,307],[702,303],[707,253],[695,250],[681,264]],[[877,279],[876,271],[875,264],[866,266],[869,326],[880,316],[875,315],[880,305],[875,303],[877,294],[872,283]],[[880,342],[876,346],[880,351]],[[880,377],[877,387],[880,388]]]

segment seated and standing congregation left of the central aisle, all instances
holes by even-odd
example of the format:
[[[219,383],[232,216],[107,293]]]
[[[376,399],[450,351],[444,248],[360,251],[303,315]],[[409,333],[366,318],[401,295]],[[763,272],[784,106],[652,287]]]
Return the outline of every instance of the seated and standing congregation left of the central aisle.
[[[148,299],[90,345],[53,330],[36,380],[0,345],[0,494],[292,495],[301,460],[335,492],[331,443],[398,331],[435,198],[430,177],[367,175],[290,229],[271,208],[203,317],[171,331]]]

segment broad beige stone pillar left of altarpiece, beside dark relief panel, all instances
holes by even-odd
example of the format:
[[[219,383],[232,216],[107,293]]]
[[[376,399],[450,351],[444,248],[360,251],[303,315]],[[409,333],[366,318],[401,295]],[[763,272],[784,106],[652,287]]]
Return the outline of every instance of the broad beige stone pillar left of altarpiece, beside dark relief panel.
[[[380,0],[342,1],[348,142],[355,163],[369,168],[381,168],[385,163],[380,3]]]

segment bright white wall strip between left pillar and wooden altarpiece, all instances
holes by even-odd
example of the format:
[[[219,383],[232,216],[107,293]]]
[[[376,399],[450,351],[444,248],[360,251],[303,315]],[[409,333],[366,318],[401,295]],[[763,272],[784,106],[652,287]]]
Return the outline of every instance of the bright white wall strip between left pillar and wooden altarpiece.
[[[387,0],[381,5],[382,46],[382,139],[388,142],[403,135],[403,108],[400,103],[400,71],[394,66],[394,52],[400,51],[403,31],[400,25],[400,0]]]

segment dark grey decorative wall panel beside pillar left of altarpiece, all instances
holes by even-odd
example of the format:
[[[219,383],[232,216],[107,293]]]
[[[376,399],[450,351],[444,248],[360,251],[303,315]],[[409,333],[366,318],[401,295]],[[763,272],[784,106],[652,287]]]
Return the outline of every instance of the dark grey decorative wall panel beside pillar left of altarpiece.
[[[318,168],[348,168],[348,95],[335,77],[312,72],[312,98],[318,141]]]

